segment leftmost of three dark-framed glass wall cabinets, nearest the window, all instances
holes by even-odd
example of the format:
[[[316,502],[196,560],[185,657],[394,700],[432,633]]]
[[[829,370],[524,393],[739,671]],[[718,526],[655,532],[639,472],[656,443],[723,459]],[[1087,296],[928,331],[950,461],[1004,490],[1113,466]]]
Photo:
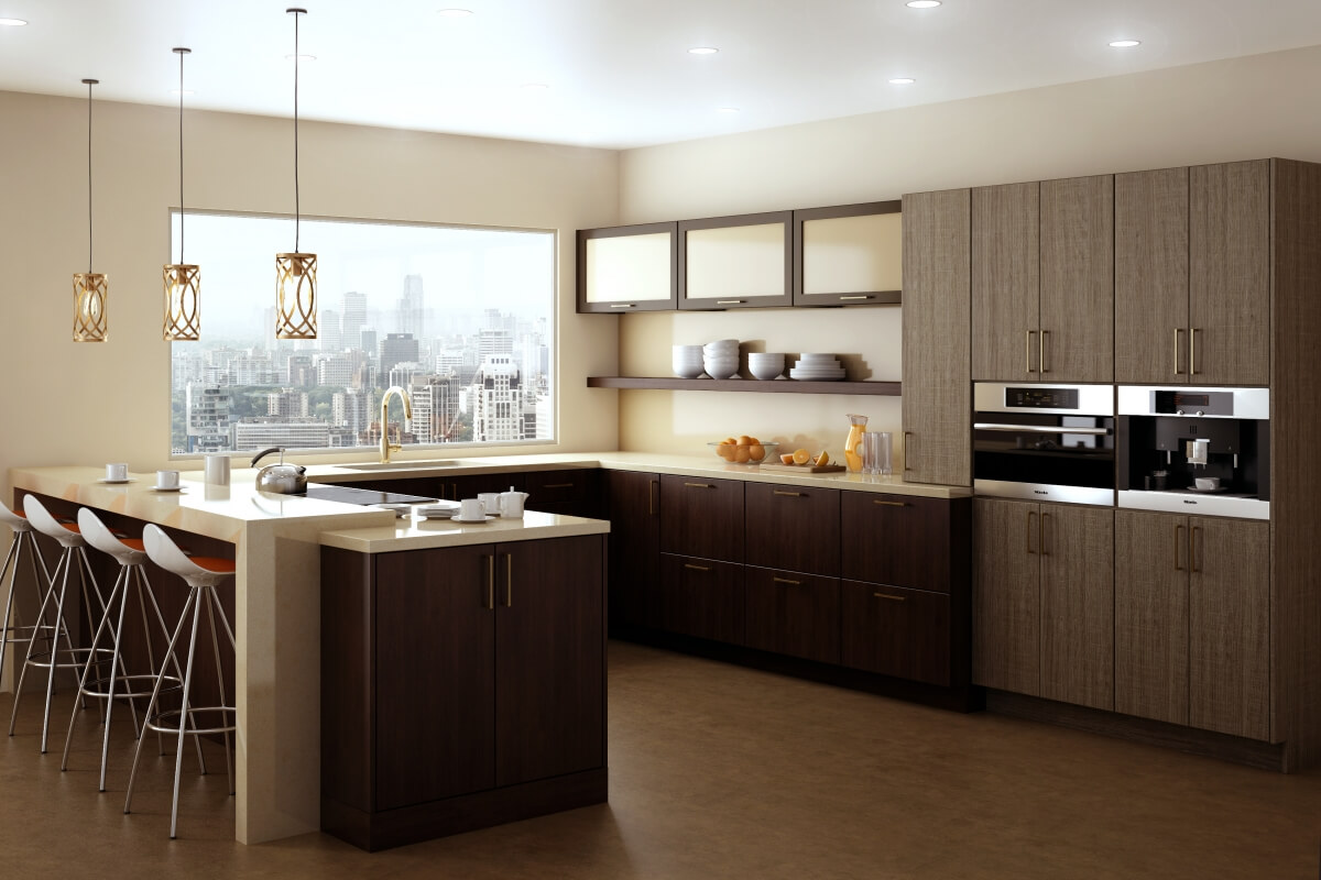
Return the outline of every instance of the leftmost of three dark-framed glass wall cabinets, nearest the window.
[[[678,223],[577,232],[579,311],[662,311],[678,301]]]

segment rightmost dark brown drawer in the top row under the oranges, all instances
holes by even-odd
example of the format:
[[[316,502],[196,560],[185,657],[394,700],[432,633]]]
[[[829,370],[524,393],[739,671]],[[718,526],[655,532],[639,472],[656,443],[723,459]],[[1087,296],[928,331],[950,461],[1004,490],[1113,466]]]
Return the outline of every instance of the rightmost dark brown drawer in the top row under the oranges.
[[[913,590],[950,591],[950,501],[844,492],[840,575]]]

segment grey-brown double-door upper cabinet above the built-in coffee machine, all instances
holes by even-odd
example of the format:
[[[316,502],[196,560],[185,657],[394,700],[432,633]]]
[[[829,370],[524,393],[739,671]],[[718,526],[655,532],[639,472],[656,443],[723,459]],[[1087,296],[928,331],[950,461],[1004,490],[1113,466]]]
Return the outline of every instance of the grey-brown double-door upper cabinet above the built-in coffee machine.
[[[1116,379],[1269,381],[1268,160],[1115,178]]]

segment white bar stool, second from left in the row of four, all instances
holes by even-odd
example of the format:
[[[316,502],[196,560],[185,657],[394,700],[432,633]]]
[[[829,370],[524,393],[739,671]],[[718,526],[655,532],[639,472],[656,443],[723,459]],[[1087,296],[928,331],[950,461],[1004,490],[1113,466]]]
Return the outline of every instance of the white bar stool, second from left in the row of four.
[[[9,736],[13,736],[13,727],[18,719],[18,702],[22,699],[22,682],[28,677],[28,669],[33,666],[46,669],[46,708],[41,716],[41,753],[45,755],[46,738],[50,728],[50,703],[55,693],[55,669],[82,669],[83,662],[78,660],[81,654],[86,653],[90,660],[98,654],[111,654],[112,652],[108,648],[102,648],[96,652],[87,648],[74,648],[73,641],[69,639],[69,627],[65,621],[65,600],[69,595],[69,574],[75,566],[78,567],[78,583],[82,587],[82,604],[87,613],[87,629],[92,631],[96,627],[96,620],[92,619],[92,596],[96,598],[96,610],[99,613],[106,613],[106,602],[102,599],[100,587],[96,586],[96,575],[87,563],[87,542],[78,532],[78,526],[71,522],[61,522],[57,520],[50,515],[50,511],[48,511],[45,505],[32,495],[22,496],[22,512],[28,517],[28,522],[32,524],[32,528],[42,534],[53,537],[62,548],[59,561],[55,563],[55,570],[50,578],[50,588],[46,590],[46,595],[41,602],[41,610],[37,612],[37,625],[49,632],[48,640],[50,650],[33,650],[38,641],[36,632],[33,632],[33,637],[28,641],[28,653],[22,661],[22,672],[18,674],[18,683],[13,689],[13,711],[9,715]],[[59,578],[58,591],[55,590],[55,578]],[[91,582],[90,592],[87,590],[89,582]],[[46,624],[46,611],[50,608],[52,602],[55,606],[55,619],[54,623]],[[65,641],[63,648],[59,646],[61,639]],[[67,656],[66,661],[61,661],[61,652]],[[74,677],[77,678],[77,672],[74,673]],[[83,706],[86,706],[86,701],[83,701]],[[98,703],[98,710],[99,707],[100,705]]]

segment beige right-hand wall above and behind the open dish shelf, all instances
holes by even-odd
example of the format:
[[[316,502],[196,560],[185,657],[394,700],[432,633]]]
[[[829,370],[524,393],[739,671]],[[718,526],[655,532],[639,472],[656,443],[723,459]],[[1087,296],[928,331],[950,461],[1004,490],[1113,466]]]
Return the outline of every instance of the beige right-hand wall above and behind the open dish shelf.
[[[904,193],[1266,156],[1321,161],[1321,47],[627,150],[621,222],[893,199]],[[621,317],[626,375],[668,375],[668,346],[738,336],[839,351],[900,375],[901,309]],[[629,371],[659,371],[629,372]],[[896,400],[620,392],[625,449],[697,451],[727,433],[840,453],[845,413],[900,430]],[[752,430],[749,430],[752,429]],[[703,450],[704,453],[704,450]]]

